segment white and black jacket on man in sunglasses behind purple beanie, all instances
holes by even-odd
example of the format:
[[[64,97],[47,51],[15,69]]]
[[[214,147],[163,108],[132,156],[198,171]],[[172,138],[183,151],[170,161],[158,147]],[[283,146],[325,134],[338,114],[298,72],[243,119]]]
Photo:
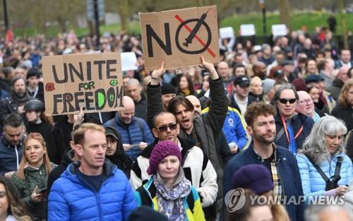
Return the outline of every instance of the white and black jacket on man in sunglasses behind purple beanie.
[[[147,173],[147,169],[150,166],[150,155],[156,144],[157,141],[145,148],[133,164],[130,183],[134,189],[138,189],[151,177]],[[182,163],[181,167],[183,167],[186,179],[189,179],[196,189],[208,193],[207,198],[201,199],[203,207],[212,205],[216,200],[218,190],[217,174],[213,165],[202,150],[194,146],[190,141],[179,138],[179,146],[182,148],[181,157],[183,160],[181,161],[184,163]]]

